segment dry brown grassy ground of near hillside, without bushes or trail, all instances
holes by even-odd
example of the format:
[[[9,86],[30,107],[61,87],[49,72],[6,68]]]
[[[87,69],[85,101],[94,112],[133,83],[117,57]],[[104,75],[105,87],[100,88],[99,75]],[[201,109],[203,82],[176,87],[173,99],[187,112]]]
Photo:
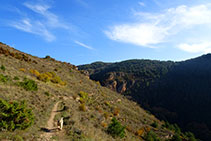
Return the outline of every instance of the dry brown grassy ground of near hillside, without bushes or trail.
[[[49,118],[51,109],[57,101],[62,101],[60,108],[68,107],[68,110],[57,115],[56,118],[63,115],[66,117],[64,131],[53,137],[58,140],[76,139],[95,139],[95,140],[113,140],[106,131],[106,126],[110,123],[111,118],[105,118],[104,114],[111,115],[114,111],[119,111],[116,116],[119,121],[127,128],[125,140],[139,140],[135,132],[141,128],[149,127],[154,130],[161,138],[170,134],[166,129],[161,129],[161,122],[153,115],[147,114],[142,108],[131,102],[121,95],[105,88],[88,79],[75,69],[74,66],[55,61],[51,58],[41,59],[25,54],[28,59],[14,57],[11,53],[23,54],[4,44],[0,48],[8,50],[9,54],[0,54],[0,65],[4,65],[6,70],[0,71],[0,74],[8,75],[11,78],[15,76],[20,80],[13,80],[3,83],[0,82],[0,98],[12,100],[26,100],[29,107],[35,114],[35,123],[25,131],[16,130],[15,132],[0,132],[2,139],[18,139],[22,137],[30,140],[37,140],[43,133],[40,129],[44,127]],[[26,58],[26,57],[25,57]],[[25,71],[20,71],[24,68]],[[62,80],[67,82],[66,86],[53,84],[51,82],[39,81],[30,69],[36,69],[39,72],[56,72]],[[26,91],[16,85],[17,82],[24,78],[29,78],[38,84],[38,91]],[[86,111],[80,111],[80,102],[77,101],[78,93],[84,91],[88,93],[88,100],[85,102]],[[50,95],[47,96],[45,92]],[[120,102],[117,102],[117,101]],[[114,115],[113,115],[114,116]],[[159,123],[157,129],[150,126],[154,121]],[[131,131],[130,131],[131,130]]]

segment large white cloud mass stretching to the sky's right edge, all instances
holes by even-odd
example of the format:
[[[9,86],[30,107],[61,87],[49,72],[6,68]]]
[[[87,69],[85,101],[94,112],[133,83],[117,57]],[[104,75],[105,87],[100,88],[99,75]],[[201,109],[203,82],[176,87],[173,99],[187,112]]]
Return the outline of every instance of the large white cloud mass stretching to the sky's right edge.
[[[136,23],[126,23],[114,25],[105,31],[108,38],[138,46],[151,47],[168,42],[169,38],[176,40],[181,32],[191,38],[191,32],[198,29],[207,29],[211,32],[211,4],[201,4],[196,6],[181,5],[176,8],[169,8],[161,13],[135,12],[135,18],[140,19]],[[204,36],[204,32],[199,30],[198,37]],[[195,39],[193,39],[195,40]],[[207,51],[210,43],[192,43],[187,38],[180,39],[177,47],[188,52]],[[183,44],[184,42],[187,42]],[[197,48],[204,48],[199,50]],[[193,49],[193,51],[190,51]]]

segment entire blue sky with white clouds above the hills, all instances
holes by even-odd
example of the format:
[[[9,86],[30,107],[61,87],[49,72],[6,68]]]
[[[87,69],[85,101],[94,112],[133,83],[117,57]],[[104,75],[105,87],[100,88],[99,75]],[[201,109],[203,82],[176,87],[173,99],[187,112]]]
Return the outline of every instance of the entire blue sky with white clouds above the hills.
[[[75,65],[211,52],[210,0],[5,0],[0,41]]]

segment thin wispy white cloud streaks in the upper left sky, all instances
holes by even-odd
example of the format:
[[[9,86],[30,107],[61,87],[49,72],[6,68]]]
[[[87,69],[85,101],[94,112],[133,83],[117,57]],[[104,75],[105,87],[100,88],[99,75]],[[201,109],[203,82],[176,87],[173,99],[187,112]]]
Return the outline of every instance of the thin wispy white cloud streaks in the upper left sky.
[[[24,32],[39,35],[49,42],[56,39],[56,36],[52,33],[53,29],[70,29],[69,26],[64,24],[56,14],[49,11],[51,8],[50,5],[29,2],[25,2],[23,5],[39,16],[42,16],[42,18],[37,18],[36,15],[26,16],[26,14],[24,14],[21,15],[23,16],[22,19],[12,21],[9,24],[10,26]]]

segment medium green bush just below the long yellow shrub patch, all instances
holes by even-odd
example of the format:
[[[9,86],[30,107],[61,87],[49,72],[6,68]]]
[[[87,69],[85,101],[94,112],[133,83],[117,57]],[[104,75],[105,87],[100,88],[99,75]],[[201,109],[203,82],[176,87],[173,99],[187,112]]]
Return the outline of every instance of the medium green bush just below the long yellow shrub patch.
[[[38,86],[34,80],[25,78],[23,82],[19,83],[19,85],[27,91],[37,91],[38,90]]]

